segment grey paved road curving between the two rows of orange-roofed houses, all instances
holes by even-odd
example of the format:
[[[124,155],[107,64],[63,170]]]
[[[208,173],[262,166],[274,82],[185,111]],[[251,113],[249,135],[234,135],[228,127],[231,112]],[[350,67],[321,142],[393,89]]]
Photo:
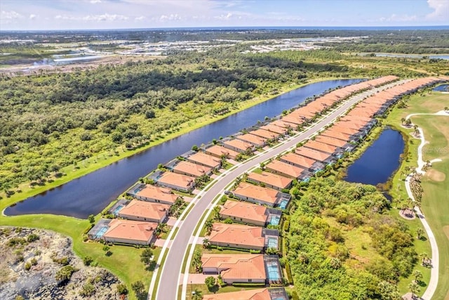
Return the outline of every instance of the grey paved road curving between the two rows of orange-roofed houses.
[[[400,81],[403,82],[403,81]],[[248,162],[243,162],[239,167],[229,171],[225,176],[222,176],[217,183],[215,183],[208,191],[203,193],[201,198],[199,198],[196,202],[192,210],[189,212],[185,220],[182,222],[182,226],[180,226],[175,239],[173,240],[173,244],[170,249],[168,249],[168,254],[164,265],[161,270],[161,277],[159,280],[159,286],[156,292],[157,300],[176,300],[177,299],[177,290],[178,290],[178,280],[179,275],[182,273],[182,261],[184,260],[185,250],[189,246],[192,235],[194,234],[194,229],[196,224],[199,222],[199,218],[203,215],[204,211],[208,208],[210,202],[213,201],[213,198],[220,194],[222,190],[237,176],[240,176],[244,172],[248,171],[252,167],[258,166],[260,162],[264,162],[265,160],[275,157],[279,155],[281,152],[288,150],[289,148],[294,147],[300,141],[309,138],[310,136],[318,133],[324,126],[334,122],[334,120],[343,115],[344,112],[349,110],[349,108],[363,100],[366,96],[373,95],[377,91],[382,91],[387,89],[387,87],[396,85],[388,84],[386,86],[382,86],[380,88],[372,89],[370,91],[365,91],[361,94],[354,96],[353,98],[347,100],[342,106],[338,107],[336,110],[326,115],[321,121],[309,127],[306,131],[297,134],[293,138],[284,141],[282,145],[277,148],[271,148],[267,150],[267,152],[262,152],[260,155],[251,159]],[[162,250],[164,251],[164,250]],[[163,253],[161,254],[161,256]],[[151,299],[152,290],[150,287],[149,297]]]

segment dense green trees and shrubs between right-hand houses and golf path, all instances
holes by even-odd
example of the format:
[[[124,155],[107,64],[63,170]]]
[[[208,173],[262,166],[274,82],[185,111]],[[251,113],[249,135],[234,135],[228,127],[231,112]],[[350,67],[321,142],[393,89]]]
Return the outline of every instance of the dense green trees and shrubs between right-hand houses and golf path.
[[[400,299],[396,284],[410,275],[417,253],[382,193],[318,178],[298,198],[286,261],[300,299]]]

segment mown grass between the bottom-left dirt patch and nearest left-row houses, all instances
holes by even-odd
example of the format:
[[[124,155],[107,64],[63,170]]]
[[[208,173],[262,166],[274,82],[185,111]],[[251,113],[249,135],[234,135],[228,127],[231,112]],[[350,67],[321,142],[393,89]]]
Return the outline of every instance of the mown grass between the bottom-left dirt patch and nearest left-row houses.
[[[145,289],[149,287],[152,272],[145,270],[145,265],[140,261],[140,254],[143,249],[114,245],[110,249],[112,255],[106,256],[105,251],[102,249],[103,244],[100,242],[83,242],[83,231],[89,226],[86,220],[47,214],[2,216],[0,218],[0,226],[33,227],[58,231],[63,235],[72,237],[73,249],[76,255],[81,258],[91,256],[95,261],[98,261],[99,266],[105,267],[117,275],[128,286],[130,291],[131,283],[138,280],[144,282]],[[155,259],[159,256],[160,251],[160,248],[153,250]],[[130,271],[130,268],[132,268],[132,271]],[[132,291],[130,292],[130,299],[135,299]]]

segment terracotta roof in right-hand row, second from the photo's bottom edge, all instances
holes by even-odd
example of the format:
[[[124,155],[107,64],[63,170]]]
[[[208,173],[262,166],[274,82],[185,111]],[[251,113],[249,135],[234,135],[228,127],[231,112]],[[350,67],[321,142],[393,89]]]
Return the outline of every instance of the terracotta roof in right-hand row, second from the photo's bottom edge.
[[[203,254],[201,262],[203,268],[222,270],[220,275],[223,280],[248,282],[248,279],[267,278],[263,254]]]

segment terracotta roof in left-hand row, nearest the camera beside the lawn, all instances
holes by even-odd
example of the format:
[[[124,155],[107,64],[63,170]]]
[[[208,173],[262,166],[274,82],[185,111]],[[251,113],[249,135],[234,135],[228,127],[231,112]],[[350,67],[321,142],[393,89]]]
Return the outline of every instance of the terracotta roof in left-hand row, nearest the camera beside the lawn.
[[[114,219],[103,237],[147,242],[153,236],[157,223]]]

